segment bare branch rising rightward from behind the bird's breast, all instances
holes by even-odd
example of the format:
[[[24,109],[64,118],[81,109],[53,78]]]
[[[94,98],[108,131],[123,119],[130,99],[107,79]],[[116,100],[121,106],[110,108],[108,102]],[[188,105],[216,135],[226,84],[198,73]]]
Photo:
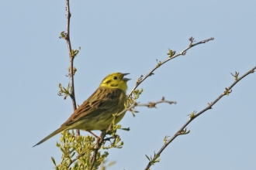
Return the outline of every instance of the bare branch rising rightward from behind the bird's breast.
[[[189,46],[187,47],[187,48],[185,48],[185,49],[183,49],[182,50],[182,52],[180,52],[180,53],[178,53],[178,54],[176,54],[175,55],[175,51],[171,51],[171,49],[169,49],[169,53],[168,53],[168,59],[165,59],[163,62],[161,62],[161,61],[157,61],[157,66],[155,66],[154,67],[154,69],[153,70],[151,70],[149,73],[147,73],[147,75],[146,76],[140,76],[140,78],[137,80],[137,82],[136,82],[136,85],[133,87],[133,89],[130,91],[130,93],[128,94],[128,97],[131,97],[131,95],[132,95],[132,93],[133,93],[133,91],[134,90],[136,90],[137,89],[137,87],[140,85],[140,83],[142,83],[144,80],[146,80],[147,79],[147,77],[148,76],[151,76],[151,75],[153,75],[154,73],[154,70],[157,70],[157,68],[159,68],[161,65],[163,65],[164,63],[167,63],[169,60],[171,60],[171,59],[174,59],[174,58],[176,58],[177,56],[185,56],[185,53],[190,49],[190,48],[192,48],[193,46],[197,46],[197,45],[199,45],[199,44],[203,44],[203,43],[206,43],[206,42],[209,42],[210,40],[213,40],[214,38],[212,37],[212,38],[209,38],[209,39],[205,39],[205,40],[202,40],[202,41],[200,41],[200,42],[197,42],[197,43],[195,43],[195,44],[192,44],[192,42],[194,42],[194,38],[193,37],[191,37],[190,39],[189,39],[189,41],[191,42],[190,44],[189,44]]]

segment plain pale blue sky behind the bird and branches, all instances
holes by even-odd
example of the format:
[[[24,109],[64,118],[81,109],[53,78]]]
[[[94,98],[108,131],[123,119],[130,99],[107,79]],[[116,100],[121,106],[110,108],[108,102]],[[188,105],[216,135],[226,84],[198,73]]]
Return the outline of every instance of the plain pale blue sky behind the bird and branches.
[[[215,39],[171,60],[140,85],[141,103],[176,100],[157,109],[137,108],[120,123],[122,149],[109,150],[109,169],[144,169],[153,155],[188,120],[240,75],[256,66],[254,1],[71,1],[71,44],[81,46],[75,58],[75,92],[81,104],[109,73],[146,75],[164,60],[168,48],[182,51],[195,41]],[[0,10],[0,99],[2,169],[53,169],[60,134],[42,145],[36,142],[55,131],[72,114],[71,100],[57,96],[58,83],[67,86],[65,1],[5,1]],[[228,97],[189,124],[151,169],[255,169],[256,74],[241,80]],[[95,131],[99,134],[99,131]],[[83,134],[87,134],[86,132]]]

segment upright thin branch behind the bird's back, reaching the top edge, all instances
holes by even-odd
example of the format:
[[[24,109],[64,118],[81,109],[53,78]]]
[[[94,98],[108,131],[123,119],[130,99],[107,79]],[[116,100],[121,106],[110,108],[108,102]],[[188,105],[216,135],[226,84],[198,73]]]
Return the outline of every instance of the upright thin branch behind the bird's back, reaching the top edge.
[[[71,12],[69,8],[69,0],[66,0],[66,11],[67,11],[67,32],[66,32],[66,41],[67,41],[67,49],[69,53],[69,61],[70,61],[70,66],[69,66],[69,77],[70,77],[70,87],[71,87],[71,100],[73,104],[73,110],[77,109],[77,104],[75,101],[75,96],[74,96],[74,70],[73,70],[73,61],[74,61],[74,56],[72,56],[72,48],[71,48],[71,40],[70,40],[70,19],[71,19]],[[80,135],[80,131],[77,129],[76,130],[76,135]]]

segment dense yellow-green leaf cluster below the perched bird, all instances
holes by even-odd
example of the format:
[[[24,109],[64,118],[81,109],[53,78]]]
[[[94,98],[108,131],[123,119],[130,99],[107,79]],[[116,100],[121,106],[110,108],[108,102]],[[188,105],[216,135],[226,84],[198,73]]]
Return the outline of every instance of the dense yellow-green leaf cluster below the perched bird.
[[[109,140],[110,141],[110,140]],[[84,170],[91,167],[92,155],[95,151],[97,141],[94,137],[86,135],[75,137],[74,131],[62,131],[61,141],[57,142],[57,148],[60,148],[62,152],[61,163],[56,164],[55,159],[52,159],[56,170]],[[104,147],[106,141],[102,145],[103,149],[109,148],[121,148],[123,141],[116,135],[113,142],[110,145]],[[98,169],[99,165],[104,163],[109,153],[107,151],[98,151],[96,155],[96,162],[92,170]],[[104,165],[102,165],[104,167]]]

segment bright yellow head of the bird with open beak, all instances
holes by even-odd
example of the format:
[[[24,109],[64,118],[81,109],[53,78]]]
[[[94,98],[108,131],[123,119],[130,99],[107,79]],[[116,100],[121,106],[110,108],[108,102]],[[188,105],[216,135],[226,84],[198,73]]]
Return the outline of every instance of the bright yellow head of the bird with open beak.
[[[129,73],[111,73],[102,80],[99,87],[108,87],[108,88],[119,88],[126,92],[127,90],[127,81],[130,79],[124,78]]]

